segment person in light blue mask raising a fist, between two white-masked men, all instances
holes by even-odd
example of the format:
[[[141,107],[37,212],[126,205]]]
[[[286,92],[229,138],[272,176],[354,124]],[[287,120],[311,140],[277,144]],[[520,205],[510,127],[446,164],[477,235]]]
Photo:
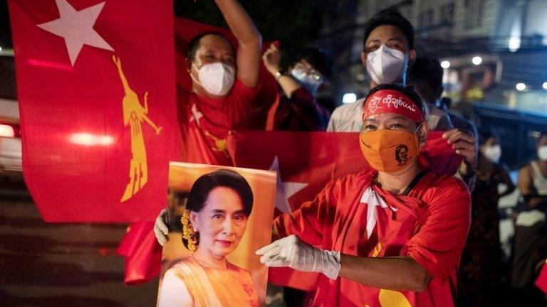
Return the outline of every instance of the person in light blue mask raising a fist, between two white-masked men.
[[[280,95],[268,114],[266,129],[325,131],[330,112],[318,104],[316,95],[333,74],[330,56],[318,48],[307,48],[301,50],[283,71],[281,53],[276,43],[272,43],[262,60],[281,87]]]

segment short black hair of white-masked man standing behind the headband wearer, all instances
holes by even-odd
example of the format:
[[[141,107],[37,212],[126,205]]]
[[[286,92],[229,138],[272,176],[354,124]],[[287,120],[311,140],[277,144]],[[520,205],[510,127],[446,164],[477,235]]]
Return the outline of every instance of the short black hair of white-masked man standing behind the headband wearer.
[[[365,38],[363,38],[363,45],[365,45],[368,36],[379,26],[396,26],[407,37],[408,49],[414,49],[414,27],[412,23],[403,17],[398,11],[392,9],[385,9],[377,12],[372,16],[367,23],[365,23]]]

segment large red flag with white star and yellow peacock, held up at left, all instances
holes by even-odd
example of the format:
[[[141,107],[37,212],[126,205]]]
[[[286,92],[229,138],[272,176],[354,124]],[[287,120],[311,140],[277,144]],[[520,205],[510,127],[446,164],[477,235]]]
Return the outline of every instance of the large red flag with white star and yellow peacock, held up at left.
[[[9,10],[24,177],[43,219],[153,220],[179,149],[172,2]]]

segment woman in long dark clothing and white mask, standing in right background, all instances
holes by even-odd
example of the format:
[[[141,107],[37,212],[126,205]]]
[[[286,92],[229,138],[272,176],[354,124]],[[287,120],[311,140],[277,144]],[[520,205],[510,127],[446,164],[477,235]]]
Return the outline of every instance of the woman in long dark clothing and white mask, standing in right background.
[[[499,163],[499,139],[489,130],[479,132],[479,168],[472,193],[471,227],[458,274],[458,306],[499,306],[501,245],[498,200],[515,185]],[[499,193],[498,186],[504,185]]]

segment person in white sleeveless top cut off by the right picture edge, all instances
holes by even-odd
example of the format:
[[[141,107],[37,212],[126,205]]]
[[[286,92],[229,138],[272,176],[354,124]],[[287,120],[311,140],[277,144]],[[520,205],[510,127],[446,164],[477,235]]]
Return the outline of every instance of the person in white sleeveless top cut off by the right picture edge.
[[[538,159],[519,171],[519,190],[527,210],[515,221],[511,268],[515,306],[545,306],[533,281],[538,263],[547,258],[547,130],[541,132],[537,149]]]

